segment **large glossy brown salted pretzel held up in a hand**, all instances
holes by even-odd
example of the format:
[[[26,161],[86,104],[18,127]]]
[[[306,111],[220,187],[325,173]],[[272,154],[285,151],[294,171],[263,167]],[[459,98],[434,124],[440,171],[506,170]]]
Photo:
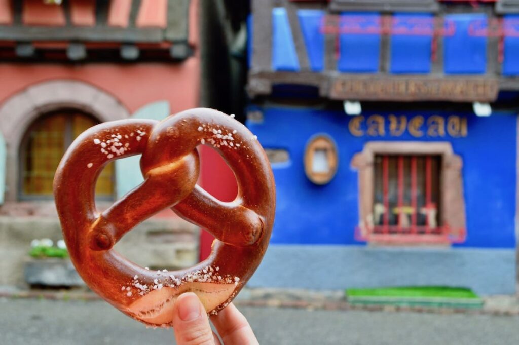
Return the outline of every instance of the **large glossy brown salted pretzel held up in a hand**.
[[[196,184],[200,144],[214,147],[234,171],[234,201],[217,200]],[[99,214],[94,186],[100,172],[108,162],[136,154],[142,154],[144,182]],[[152,326],[171,326],[175,299],[188,291],[208,313],[225,308],[260,264],[274,223],[274,177],[263,148],[240,122],[213,109],[191,109],[160,122],[94,126],[66,151],[53,188],[78,273],[114,307]],[[113,250],[126,232],[165,208],[213,234],[206,260],[184,270],[152,271]]]

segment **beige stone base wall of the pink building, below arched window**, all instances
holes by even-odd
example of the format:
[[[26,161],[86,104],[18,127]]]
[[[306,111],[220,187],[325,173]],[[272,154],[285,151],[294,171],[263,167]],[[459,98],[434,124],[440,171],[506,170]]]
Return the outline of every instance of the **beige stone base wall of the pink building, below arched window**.
[[[33,239],[62,239],[56,216],[0,216],[0,286],[28,287],[24,264]],[[143,267],[168,269],[198,263],[198,227],[180,218],[146,220],[121,239],[115,250]]]

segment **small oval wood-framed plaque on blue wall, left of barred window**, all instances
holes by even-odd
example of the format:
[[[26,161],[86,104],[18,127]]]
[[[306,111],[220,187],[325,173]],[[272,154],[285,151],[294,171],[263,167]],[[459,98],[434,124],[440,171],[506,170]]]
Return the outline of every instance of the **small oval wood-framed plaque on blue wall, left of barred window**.
[[[305,173],[308,179],[317,184],[329,183],[337,172],[337,147],[328,135],[313,136],[305,150]]]

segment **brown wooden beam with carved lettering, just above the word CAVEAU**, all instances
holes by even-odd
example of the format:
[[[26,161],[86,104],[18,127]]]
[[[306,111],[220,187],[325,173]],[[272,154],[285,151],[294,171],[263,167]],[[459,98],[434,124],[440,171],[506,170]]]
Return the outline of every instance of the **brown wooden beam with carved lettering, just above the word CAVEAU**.
[[[499,90],[519,90],[519,78],[392,76],[250,72],[247,91],[254,97],[269,94],[274,84],[308,85],[332,100],[493,102]],[[505,87],[506,86],[506,87]]]

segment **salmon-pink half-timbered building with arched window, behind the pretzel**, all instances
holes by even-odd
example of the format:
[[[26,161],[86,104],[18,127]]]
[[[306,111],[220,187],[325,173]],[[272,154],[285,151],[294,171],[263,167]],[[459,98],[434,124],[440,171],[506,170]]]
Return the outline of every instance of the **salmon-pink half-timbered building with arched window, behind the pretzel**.
[[[216,67],[201,56],[226,57],[224,33],[234,33],[222,29],[225,10],[196,0],[0,0],[0,285],[23,285],[31,240],[61,238],[52,180],[75,137],[99,122],[161,120],[214,104],[215,81],[202,74],[213,77]],[[203,40],[207,31],[219,47]],[[225,77],[229,68],[217,68]],[[230,99],[227,85],[218,85],[221,100]],[[210,150],[201,156],[200,183],[221,196],[212,169],[228,168]],[[142,181],[139,156],[109,164],[98,208]],[[190,266],[199,229],[166,210],[117,246],[143,267]]]

